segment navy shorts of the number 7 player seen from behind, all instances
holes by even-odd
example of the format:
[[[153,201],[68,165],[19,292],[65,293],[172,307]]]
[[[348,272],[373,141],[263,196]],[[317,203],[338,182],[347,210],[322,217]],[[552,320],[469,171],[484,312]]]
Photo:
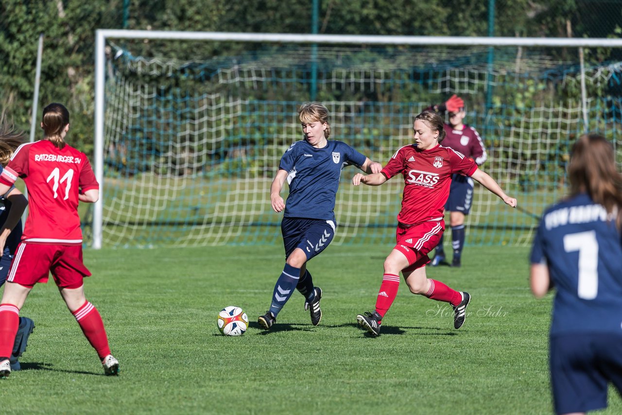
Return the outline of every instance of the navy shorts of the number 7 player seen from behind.
[[[622,333],[553,335],[549,351],[556,413],[606,408],[609,382],[622,394]]]

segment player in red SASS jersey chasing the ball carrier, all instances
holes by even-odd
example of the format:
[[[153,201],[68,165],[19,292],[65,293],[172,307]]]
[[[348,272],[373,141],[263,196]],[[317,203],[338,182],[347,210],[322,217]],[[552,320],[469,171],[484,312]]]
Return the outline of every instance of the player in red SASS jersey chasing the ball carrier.
[[[473,177],[503,202],[516,207],[516,199],[506,195],[490,175],[478,169],[475,161],[440,146],[445,130],[439,114],[426,111],[417,115],[413,133],[415,143],[397,150],[379,173],[357,173],[352,179],[355,186],[361,183],[378,186],[394,175],[401,173],[404,177],[402,210],[397,215],[397,245],[384,260],[376,309],[356,316],[358,324],[373,336],[379,335],[381,320],[397,295],[400,272],[413,294],[452,305],[455,329],[460,329],[465,322],[466,306],[471,300],[468,292],[455,291],[425,275],[425,265],[430,262],[427,255],[439,243],[445,230],[443,207],[449,195],[452,174]]]

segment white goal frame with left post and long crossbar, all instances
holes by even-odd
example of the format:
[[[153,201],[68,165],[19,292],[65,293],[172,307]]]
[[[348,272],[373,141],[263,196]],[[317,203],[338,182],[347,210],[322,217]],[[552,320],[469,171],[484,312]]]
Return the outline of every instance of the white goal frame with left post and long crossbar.
[[[583,77],[583,48],[622,47],[622,39],[567,39],[544,37],[448,37],[448,36],[386,36],[386,35],[320,35],[320,34],[260,34],[227,32],[179,32],[156,30],[96,30],[95,42],[95,175],[100,183],[100,200],[93,210],[92,246],[102,246],[103,203],[106,201],[104,187],[104,89],[106,82],[106,40],[108,39],[159,39],[159,40],[206,40],[218,42],[255,42],[290,44],[338,44],[338,45],[439,45],[483,47],[574,47],[582,65],[582,110],[587,126],[585,84]]]

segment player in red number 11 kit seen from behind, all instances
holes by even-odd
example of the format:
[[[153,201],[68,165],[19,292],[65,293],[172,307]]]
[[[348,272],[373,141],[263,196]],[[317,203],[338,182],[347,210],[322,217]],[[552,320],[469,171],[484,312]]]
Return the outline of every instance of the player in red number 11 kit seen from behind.
[[[78,202],[96,202],[99,184],[83,152],[68,146],[69,111],[52,103],[43,110],[45,137],[22,144],[0,174],[0,194],[17,177],[26,182],[29,215],[17,246],[0,302],[0,377],[11,374],[9,356],[19,324],[19,310],[37,282],[50,271],[60,295],[98,353],[106,375],[116,375],[119,361],[110,354],[100,313],[86,301],[83,278],[91,273],[82,261]]]

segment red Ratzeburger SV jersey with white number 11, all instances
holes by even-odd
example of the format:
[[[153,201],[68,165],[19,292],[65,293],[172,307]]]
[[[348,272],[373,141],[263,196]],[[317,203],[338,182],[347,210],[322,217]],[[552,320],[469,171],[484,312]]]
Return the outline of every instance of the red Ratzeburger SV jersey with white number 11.
[[[65,145],[57,149],[49,140],[22,144],[0,175],[12,185],[17,177],[26,182],[29,214],[22,241],[80,245],[78,189],[99,189],[95,174],[83,152]]]

